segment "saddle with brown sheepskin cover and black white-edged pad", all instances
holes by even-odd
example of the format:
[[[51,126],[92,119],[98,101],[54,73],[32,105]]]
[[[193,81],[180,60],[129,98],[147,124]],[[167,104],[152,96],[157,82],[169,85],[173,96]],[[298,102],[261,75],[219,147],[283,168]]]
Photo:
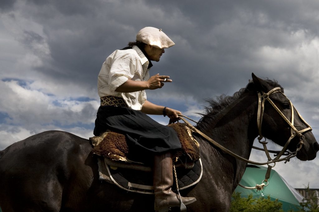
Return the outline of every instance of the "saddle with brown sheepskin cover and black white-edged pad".
[[[175,130],[182,146],[182,151],[174,154],[176,179],[181,190],[196,184],[202,177],[199,143],[185,123],[168,126]],[[89,140],[94,146],[93,155],[97,156],[101,181],[114,183],[127,191],[153,194],[152,167],[145,161],[130,160],[125,135],[107,131]],[[174,184],[176,187],[175,180]]]

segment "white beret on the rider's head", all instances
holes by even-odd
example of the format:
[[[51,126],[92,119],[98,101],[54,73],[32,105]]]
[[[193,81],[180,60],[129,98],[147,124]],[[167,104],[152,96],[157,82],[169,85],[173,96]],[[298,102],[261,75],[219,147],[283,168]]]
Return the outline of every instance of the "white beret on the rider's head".
[[[141,29],[137,33],[136,41],[149,44],[159,49],[165,49],[175,45],[161,29],[150,26]]]

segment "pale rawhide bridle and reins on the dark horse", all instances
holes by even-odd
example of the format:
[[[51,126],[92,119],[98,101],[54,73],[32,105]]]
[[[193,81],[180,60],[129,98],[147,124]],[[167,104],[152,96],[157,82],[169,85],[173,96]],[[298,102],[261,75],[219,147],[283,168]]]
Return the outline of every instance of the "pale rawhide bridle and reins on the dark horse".
[[[232,151],[226,149],[225,147],[223,147],[222,145],[220,145],[219,143],[217,143],[216,141],[214,141],[213,139],[211,139],[210,137],[208,137],[207,135],[205,135],[204,133],[199,131],[197,128],[192,126],[183,117],[191,120],[190,118],[188,118],[187,116],[184,116],[182,114],[178,114],[180,116],[180,119],[182,119],[192,130],[194,130],[196,133],[200,134],[204,139],[208,140],[215,147],[218,147],[219,149],[221,149],[222,151],[226,152],[227,154],[230,154],[233,157],[235,157],[235,158],[237,158],[239,160],[245,161],[247,163],[250,163],[250,164],[255,164],[255,165],[266,165],[267,164],[268,165],[268,169],[267,169],[267,172],[266,172],[266,175],[265,175],[265,180],[263,180],[261,185],[257,184],[255,187],[244,187],[244,186],[239,184],[243,188],[262,190],[264,186],[267,186],[268,185],[268,179],[270,178],[271,168],[273,168],[276,165],[276,162],[285,161],[285,163],[286,163],[287,161],[290,161],[290,158],[295,157],[297,155],[297,152],[300,151],[300,149],[302,148],[303,140],[305,139],[305,136],[302,135],[302,133],[305,133],[305,132],[308,132],[308,131],[312,130],[310,125],[302,118],[302,116],[298,113],[297,110],[296,110],[296,112],[297,112],[298,117],[304,122],[304,124],[307,126],[307,128],[298,131],[293,126],[293,121],[294,121],[294,112],[293,112],[294,110],[293,110],[293,108],[294,107],[293,107],[292,102],[286,97],[289,100],[290,107],[291,107],[291,120],[289,121],[286,118],[286,116],[278,109],[278,107],[269,98],[269,96],[271,94],[277,93],[277,92],[280,92],[281,94],[283,94],[286,97],[286,95],[283,92],[281,92],[281,88],[280,87],[276,87],[276,88],[270,90],[268,93],[265,93],[265,92],[260,93],[260,92],[258,92],[258,112],[257,112],[257,126],[258,126],[258,131],[259,131],[258,141],[259,141],[259,143],[261,143],[263,145],[264,149],[261,149],[261,148],[258,148],[258,147],[253,147],[253,148],[258,149],[258,150],[263,150],[266,153],[268,161],[267,162],[263,162],[263,163],[249,161],[248,159],[245,159],[245,158],[233,153]],[[268,143],[268,142],[266,142],[266,138],[265,138],[264,141],[260,141],[261,139],[264,138],[262,133],[261,133],[261,125],[262,125],[262,121],[263,121],[264,104],[265,104],[266,100],[274,107],[274,109],[279,113],[279,115],[288,123],[288,125],[290,126],[290,129],[291,129],[291,136],[290,136],[290,138],[288,139],[288,141],[286,142],[285,146],[283,147],[283,149],[280,152],[279,151],[268,150],[267,147],[266,147],[266,144]],[[194,121],[194,120],[191,120],[191,121]],[[196,121],[194,121],[194,122],[197,123]],[[286,151],[290,141],[294,137],[296,137],[297,135],[299,137],[299,144],[298,144],[299,147],[297,146],[296,151],[294,151],[294,152]],[[276,157],[274,159],[271,159],[269,152],[277,153],[277,155],[274,155]],[[285,155],[286,157],[280,158],[282,155]],[[273,166],[269,165],[271,163],[274,163],[274,165]],[[267,182],[267,184],[265,184],[264,182]]]

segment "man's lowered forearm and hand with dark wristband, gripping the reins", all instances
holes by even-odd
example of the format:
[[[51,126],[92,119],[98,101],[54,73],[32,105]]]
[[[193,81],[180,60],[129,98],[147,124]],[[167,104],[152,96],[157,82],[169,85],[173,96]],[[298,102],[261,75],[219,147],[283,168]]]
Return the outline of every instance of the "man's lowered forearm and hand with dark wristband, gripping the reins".
[[[163,115],[164,106],[155,105],[152,102],[146,100],[142,106],[141,111],[143,113],[150,114],[150,115]],[[180,118],[178,117],[177,114],[182,114],[180,111],[174,110],[174,109],[169,108],[169,107],[165,108],[165,113],[166,113],[167,117],[170,118],[171,121],[173,121],[173,122],[180,120]]]

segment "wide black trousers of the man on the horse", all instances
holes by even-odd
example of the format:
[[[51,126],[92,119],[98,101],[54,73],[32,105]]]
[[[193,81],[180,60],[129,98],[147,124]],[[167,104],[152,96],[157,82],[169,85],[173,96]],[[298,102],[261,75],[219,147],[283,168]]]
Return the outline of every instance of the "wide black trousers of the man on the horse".
[[[182,148],[171,127],[128,107],[100,106],[93,133],[98,136],[107,129],[124,134],[130,151],[135,154],[150,155]]]

